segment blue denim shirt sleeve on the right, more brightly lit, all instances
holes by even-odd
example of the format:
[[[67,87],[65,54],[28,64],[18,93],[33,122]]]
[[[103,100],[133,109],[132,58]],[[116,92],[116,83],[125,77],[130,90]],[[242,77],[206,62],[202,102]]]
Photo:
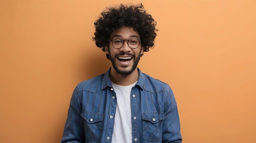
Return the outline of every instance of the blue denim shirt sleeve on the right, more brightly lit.
[[[180,134],[180,119],[177,104],[171,88],[164,101],[164,117],[162,142],[181,143],[182,137]]]

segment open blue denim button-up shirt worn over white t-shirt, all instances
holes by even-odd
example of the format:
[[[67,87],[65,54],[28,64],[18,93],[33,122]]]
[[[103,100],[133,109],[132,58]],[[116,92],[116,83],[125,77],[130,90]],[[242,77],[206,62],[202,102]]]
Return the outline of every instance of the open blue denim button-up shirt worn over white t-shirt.
[[[166,83],[151,78],[139,68],[138,71],[138,82],[130,94],[130,142],[181,143],[180,120],[173,91]],[[109,74],[110,69],[76,86],[61,143],[111,143],[117,97]]]

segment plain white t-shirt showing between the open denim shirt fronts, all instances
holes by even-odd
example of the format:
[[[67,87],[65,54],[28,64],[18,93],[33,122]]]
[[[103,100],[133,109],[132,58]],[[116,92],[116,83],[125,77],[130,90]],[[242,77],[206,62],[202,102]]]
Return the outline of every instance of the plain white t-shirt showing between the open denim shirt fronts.
[[[117,109],[111,143],[132,142],[132,113],[130,93],[136,82],[128,86],[121,86],[112,82],[112,86],[117,95]]]

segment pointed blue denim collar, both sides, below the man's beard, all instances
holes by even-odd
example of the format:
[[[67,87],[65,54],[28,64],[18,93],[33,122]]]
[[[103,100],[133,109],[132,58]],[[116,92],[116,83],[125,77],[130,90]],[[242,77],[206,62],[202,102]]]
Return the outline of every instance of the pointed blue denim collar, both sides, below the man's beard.
[[[103,76],[101,90],[105,89],[106,87],[113,88],[111,80],[110,80],[110,76],[109,76],[110,69],[111,69],[111,67],[108,69],[108,71]],[[144,86],[144,74],[141,72],[141,70],[139,68],[137,68],[137,69],[139,71],[139,79],[138,79],[138,82],[136,83],[136,85],[138,85],[141,89],[143,89],[143,86]]]

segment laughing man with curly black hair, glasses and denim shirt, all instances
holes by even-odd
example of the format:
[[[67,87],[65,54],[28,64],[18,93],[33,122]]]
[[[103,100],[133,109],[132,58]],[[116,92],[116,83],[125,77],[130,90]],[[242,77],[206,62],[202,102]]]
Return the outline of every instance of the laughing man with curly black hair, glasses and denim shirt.
[[[171,88],[137,68],[154,45],[154,19],[142,4],[121,4],[101,13],[94,25],[96,45],[112,66],[77,85],[61,143],[181,143]]]

